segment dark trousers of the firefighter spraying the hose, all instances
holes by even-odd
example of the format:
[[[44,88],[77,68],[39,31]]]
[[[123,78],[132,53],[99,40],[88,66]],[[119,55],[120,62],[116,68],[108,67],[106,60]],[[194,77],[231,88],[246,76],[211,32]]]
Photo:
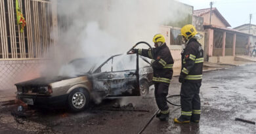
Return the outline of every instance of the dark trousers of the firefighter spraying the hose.
[[[167,105],[167,95],[169,91],[169,83],[165,82],[155,82],[155,98],[156,104],[161,111],[169,110]]]

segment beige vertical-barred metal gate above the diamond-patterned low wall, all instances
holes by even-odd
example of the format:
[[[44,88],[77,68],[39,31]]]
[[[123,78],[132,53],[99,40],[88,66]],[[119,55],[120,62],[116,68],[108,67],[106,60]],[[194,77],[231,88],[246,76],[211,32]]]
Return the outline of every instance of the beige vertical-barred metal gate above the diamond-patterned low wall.
[[[16,0],[0,0],[0,60],[47,56],[53,46],[51,1],[18,0],[26,20],[24,32],[16,20]]]

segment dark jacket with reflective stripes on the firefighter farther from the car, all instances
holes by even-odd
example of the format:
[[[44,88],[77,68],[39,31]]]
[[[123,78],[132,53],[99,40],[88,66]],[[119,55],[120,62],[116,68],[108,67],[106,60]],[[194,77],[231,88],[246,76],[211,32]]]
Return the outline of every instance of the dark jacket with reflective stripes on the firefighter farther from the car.
[[[181,53],[182,66],[180,78],[192,83],[202,82],[203,49],[196,39],[190,39]]]

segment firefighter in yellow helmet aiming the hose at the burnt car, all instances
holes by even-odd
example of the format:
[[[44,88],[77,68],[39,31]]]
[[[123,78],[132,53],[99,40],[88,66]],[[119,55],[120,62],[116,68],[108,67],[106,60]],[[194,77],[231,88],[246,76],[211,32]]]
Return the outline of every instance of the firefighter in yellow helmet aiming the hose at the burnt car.
[[[137,53],[141,56],[151,58],[151,64],[154,72],[153,82],[155,86],[155,98],[158,108],[161,110],[156,117],[161,121],[169,118],[169,107],[167,105],[167,95],[169,83],[173,76],[173,57],[168,46],[165,43],[165,38],[161,34],[157,34],[153,38],[154,46],[153,56],[150,49],[134,49],[132,54]]]

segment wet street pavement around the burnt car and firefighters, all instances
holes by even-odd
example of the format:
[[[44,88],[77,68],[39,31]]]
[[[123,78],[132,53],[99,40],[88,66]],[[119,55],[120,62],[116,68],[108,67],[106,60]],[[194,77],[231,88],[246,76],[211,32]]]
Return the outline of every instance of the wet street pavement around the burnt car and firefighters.
[[[169,120],[160,122],[154,118],[143,133],[256,133],[255,125],[235,121],[256,121],[255,80],[256,64],[207,71],[203,73],[199,124],[174,124],[173,118],[180,115],[181,109],[170,106]],[[169,94],[179,94],[180,87],[178,77],[174,77]],[[127,106],[114,108],[116,102]],[[15,118],[11,111],[16,107],[0,105],[0,133],[138,133],[156,111],[153,92],[146,97],[107,99],[79,113],[31,109],[30,116]]]

